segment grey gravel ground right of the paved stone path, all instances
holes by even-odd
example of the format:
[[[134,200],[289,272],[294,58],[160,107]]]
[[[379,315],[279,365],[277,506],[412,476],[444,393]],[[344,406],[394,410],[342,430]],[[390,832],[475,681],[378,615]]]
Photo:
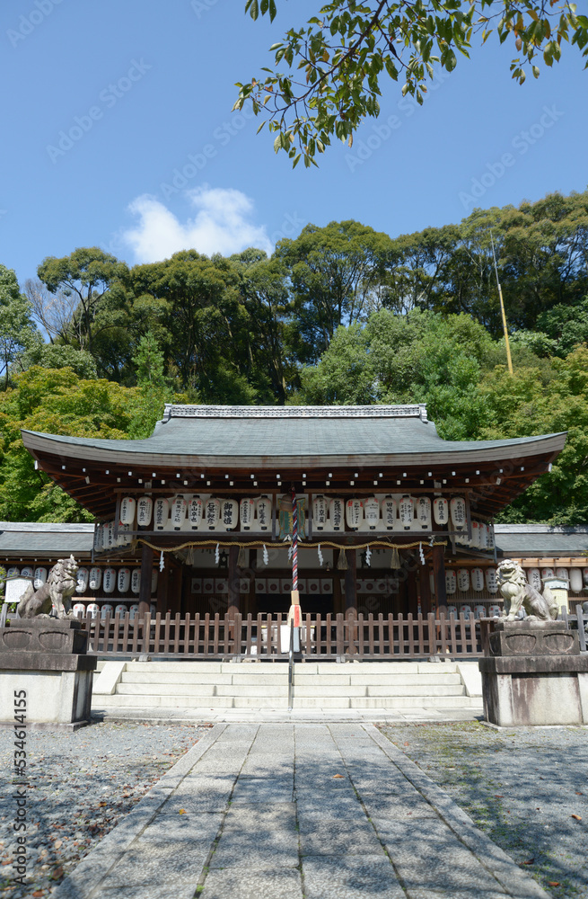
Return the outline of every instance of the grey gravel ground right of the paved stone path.
[[[555,899],[588,899],[588,729],[382,725]]]

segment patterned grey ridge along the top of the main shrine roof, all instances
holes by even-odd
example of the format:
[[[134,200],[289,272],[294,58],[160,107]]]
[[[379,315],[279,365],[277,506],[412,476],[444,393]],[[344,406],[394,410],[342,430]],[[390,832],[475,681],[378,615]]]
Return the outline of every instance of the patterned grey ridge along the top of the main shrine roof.
[[[412,405],[175,405],[165,404],[163,423],[171,418],[420,418],[426,404]]]

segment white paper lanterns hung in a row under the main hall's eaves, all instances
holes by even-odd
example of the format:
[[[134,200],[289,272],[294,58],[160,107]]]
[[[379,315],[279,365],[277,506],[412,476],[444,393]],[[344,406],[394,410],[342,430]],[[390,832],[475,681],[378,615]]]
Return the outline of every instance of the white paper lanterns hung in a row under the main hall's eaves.
[[[127,529],[136,524],[137,528],[151,526],[152,530],[216,530],[219,525],[224,530],[234,530],[241,522],[241,530],[265,531],[271,530],[271,520],[272,500],[269,496],[237,501],[179,494],[155,500],[151,496],[142,496],[138,500],[125,496],[120,501],[120,527]],[[364,522],[368,530],[431,530],[433,521],[437,525],[451,521],[454,530],[467,532],[465,499],[453,496],[448,500],[437,496],[432,502],[428,496],[407,494],[399,499],[388,495],[382,500],[370,496],[346,501],[319,494],[312,501],[312,528],[316,531],[345,530],[345,523],[350,530],[358,530]],[[116,546],[114,523],[107,522],[102,527],[105,533],[101,548]],[[471,545],[493,547],[492,529],[484,522],[472,521]]]

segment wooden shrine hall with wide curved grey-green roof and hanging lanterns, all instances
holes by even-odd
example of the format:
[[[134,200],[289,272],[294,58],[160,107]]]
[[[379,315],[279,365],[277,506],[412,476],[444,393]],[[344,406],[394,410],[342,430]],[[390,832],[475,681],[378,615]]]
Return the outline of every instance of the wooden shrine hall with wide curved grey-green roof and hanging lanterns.
[[[95,517],[82,610],[285,613],[295,496],[303,613],[355,619],[497,614],[495,516],[566,434],[444,441],[425,405],[166,405],[145,440],[22,439]]]

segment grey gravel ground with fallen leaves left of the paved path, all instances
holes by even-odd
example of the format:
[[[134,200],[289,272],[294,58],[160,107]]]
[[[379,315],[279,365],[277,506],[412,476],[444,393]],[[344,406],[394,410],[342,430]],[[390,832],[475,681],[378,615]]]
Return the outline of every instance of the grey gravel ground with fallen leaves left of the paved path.
[[[103,722],[27,733],[27,886],[13,883],[12,730],[0,730],[0,896],[48,896],[212,725]]]

